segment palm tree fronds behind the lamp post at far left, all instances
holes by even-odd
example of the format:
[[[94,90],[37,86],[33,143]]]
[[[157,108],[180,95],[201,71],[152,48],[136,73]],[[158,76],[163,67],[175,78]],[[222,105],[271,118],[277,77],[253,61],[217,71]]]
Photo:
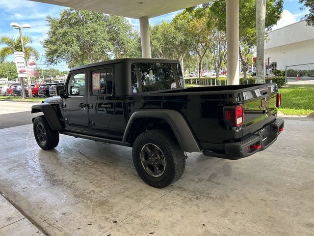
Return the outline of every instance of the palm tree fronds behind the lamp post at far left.
[[[31,52],[33,52],[35,56],[38,58],[39,54],[37,50],[32,46],[27,45],[32,43],[31,38],[26,35],[24,35],[22,38],[24,43],[26,60],[30,57]],[[13,52],[22,52],[20,37],[14,38],[10,36],[2,36],[0,38],[0,44],[5,45],[0,49],[0,62],[3,62],[9,55],[13,54]]]

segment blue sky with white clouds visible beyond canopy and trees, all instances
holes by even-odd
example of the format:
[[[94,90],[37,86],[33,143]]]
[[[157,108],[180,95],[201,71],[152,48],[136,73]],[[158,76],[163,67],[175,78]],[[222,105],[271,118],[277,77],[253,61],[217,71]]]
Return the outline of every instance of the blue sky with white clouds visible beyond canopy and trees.
[[[300,7],[301,5],[298,3],[298,0],[284,0],[282,18],[273,29],[279,29],[300,21],[308,12],[308,10],[300,10]],[[45,38],[49,30],[46,17],[47,15],[57,17],[63,9],[65,9],[65,7],[28,0],[0,0],[0,36],[10,35],[15,38],[19,36],[19,31],[10,27],[11,22],[30,24],[31,29],[23,29],[23,34],[29,35],[32,38],[32,46],[35,47],[42,56],[44,49],[40,42]],[[179,12],[180,11],[151,18],[149,22],[151,25],[155,25],[161,23],[162,20],[171,21]],[[138,20],[128,19],[136,29],[139,29]],[[0,48],[2,46],[4,45],[0,45]],[[13,60],[13,56],[8,57],[7,60]],[[46,68],[46,66],[43,65],[44,62],[44,58],[38,58],[38,67]],[[54,66],[54,68],[65,70],[67,67],[65,64],[59,64]]]

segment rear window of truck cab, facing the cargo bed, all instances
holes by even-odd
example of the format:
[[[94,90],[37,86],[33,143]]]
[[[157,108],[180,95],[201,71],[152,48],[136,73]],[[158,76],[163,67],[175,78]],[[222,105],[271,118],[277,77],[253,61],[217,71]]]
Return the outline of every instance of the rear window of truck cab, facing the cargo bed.
[[[131,81],[133,93],[183,88],[181,67],[175,63],[133,63]]]

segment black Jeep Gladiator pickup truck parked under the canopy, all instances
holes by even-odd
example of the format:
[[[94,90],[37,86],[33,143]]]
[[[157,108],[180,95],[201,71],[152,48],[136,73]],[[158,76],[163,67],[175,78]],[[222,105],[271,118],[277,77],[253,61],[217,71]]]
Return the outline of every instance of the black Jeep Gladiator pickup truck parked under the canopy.
[[[35,139],[59,134],[132,148],[138,175],[162,188],[178,180],[184,152],[239,159],[269,147],[284,128],[276,84],[184,88],[178,60],[116,59],[70,70],[57,95],[32,106]]]

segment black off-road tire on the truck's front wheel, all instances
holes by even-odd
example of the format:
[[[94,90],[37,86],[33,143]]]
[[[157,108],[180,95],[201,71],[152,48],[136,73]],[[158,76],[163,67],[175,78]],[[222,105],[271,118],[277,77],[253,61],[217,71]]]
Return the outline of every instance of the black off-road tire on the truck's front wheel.
[[[39,137],[37,135],[36,129],[37,125],[40,124],[44,128],[46,132],[46,140],[45,142],[41,142],[39,140]],[[39,116],[34,119],[34,124],[33,124],[33,131],[34,131],[34,136],[35,140],[38,144],[38,146],[44,150],[49,150],[52,148],[55,148],[58,146],[59,143],[59,132],[58,131],[53,131],[47,122],[47,119],[45,116]]]

